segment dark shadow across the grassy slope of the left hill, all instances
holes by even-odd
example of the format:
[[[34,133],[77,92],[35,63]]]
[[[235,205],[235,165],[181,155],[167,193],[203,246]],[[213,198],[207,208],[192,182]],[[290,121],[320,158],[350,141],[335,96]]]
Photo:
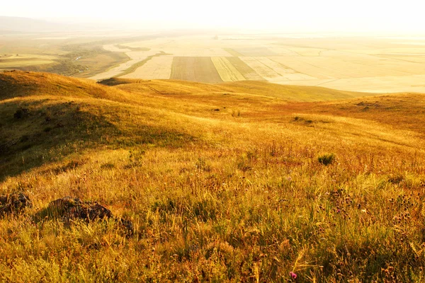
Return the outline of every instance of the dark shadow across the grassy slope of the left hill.
[[[143,124],[121,129],[119,117],[111,117],[113,110],[85,106],[83,103],[52,103],[51,100],[2,103],[0,182],[89,149],[117,149],[143,144],[181,147],[195,140],[188,134]],[[90,109],[90,112],[81,108]],[[21,115],[16,115],[18,112]],[[70,162],[53,173],[77,166],[78,163]]]

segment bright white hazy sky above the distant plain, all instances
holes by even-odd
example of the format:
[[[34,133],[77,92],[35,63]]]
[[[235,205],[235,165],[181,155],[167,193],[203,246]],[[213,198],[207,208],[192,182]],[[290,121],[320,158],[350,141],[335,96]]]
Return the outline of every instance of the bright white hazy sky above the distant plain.
[[[425,34],[419,0],[4,1],[0,16],[120,21],[159,28],[386,31]],[[89,20],[90,19],[90,20]]]

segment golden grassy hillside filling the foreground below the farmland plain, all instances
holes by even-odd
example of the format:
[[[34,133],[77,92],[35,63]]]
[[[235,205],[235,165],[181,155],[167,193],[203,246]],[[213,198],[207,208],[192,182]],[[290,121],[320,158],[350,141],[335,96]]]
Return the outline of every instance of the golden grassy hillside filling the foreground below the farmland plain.
[[[419,93],[0,74],[0,191],[34,203],[0,219],[1,280],[423,281],[424,109]],[[30,221],[65,195],[135,235]]]

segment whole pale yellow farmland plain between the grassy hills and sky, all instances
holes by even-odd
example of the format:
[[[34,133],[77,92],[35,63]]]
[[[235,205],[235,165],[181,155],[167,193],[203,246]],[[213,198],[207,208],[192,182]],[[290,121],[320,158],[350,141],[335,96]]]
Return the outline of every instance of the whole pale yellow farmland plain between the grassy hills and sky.
[[[425,39],[419,37],[126,36],[6,36],[0,70],[50,71],[94,80],[254,80],[345,91],[425,92]],[[11,50],[21,54],[12,57]]]

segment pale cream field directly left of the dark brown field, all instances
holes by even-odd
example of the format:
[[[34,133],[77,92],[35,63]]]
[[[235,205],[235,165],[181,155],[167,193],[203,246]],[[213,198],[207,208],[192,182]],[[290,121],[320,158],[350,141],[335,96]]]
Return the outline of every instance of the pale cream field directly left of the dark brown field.
[[[125,79],[170,79],[173,57],[153,57],[134,72],[122,76]]]

